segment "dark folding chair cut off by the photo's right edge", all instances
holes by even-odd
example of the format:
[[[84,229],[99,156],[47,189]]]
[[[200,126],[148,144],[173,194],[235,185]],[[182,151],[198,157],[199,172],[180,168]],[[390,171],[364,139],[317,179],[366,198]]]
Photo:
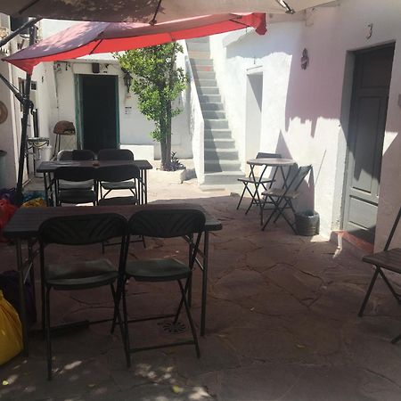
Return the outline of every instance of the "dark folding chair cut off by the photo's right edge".
[[[391,294],[393,294],[393,297],[397,300],[398,304],[401,304],[401,295],[397,293],[397,291],[390,284],[389,279],[383,272],[384,269],[384,270],[389,270],[390,272],[393,273],[401,274],[401,249],[393,248],[392,250],[389,250],[400,217],[401,217],[401,208],[398,210],[396,221],[394,222],[394,225],[391,227],[389,238],[386,241],[384,250],[382,250],[381,252],[373,253],[372,255],[365,255],[364,258],[362,258],[364,262],[375,266],[375,270],[372,277],[372,281],[369,284],[369,287],[366,291],[366,295],[364,296],[364,302],[362,303],[362,306],[359,309],[358,316],[360,317],[364,315],[364,308],[366,307],[366,304],[371,296],[374,283],[376,282],[379,274],[381,275],[381,278],[386,283],[386,285],[389,287],[389,291],[391,292]],[[399,340],[401,340],[401,334],[395,337],[393,340],[391,340],[391,342],[395,344]]]

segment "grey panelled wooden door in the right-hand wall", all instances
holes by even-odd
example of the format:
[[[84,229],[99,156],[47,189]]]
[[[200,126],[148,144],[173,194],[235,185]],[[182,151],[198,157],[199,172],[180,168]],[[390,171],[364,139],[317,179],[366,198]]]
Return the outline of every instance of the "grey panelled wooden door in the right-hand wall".
[[[355,53],[343,228],[373,243],[394,45]]]

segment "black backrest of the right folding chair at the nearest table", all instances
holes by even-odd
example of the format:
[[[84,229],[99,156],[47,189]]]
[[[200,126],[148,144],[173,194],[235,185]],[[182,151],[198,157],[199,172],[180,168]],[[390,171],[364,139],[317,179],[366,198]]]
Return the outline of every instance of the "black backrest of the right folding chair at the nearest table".
[[[197,209],[148,209],[137,211],[128,221],[128,233],[173,238],[202,233],[205,215]]]

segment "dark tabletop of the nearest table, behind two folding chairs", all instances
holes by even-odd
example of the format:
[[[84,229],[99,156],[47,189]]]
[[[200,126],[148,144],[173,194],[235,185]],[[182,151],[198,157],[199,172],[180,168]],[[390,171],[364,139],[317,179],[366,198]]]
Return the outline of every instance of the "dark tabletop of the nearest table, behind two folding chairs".
[[[29,239],[37,236],[39,226],[49,217],[85,215],[90,213],[119,213],[127,219],[141,209],[198,209],[206,217],[206,231],[219,231],[221,222],[192,203],[148,203],[139,206],[62,206],[56,208],[20,208],[4,227],[4,237],[9,239]]]

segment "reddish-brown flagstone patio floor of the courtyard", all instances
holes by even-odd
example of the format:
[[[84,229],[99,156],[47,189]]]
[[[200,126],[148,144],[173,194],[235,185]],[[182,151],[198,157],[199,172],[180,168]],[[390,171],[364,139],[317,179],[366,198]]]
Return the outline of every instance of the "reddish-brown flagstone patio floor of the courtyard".
[[[47,381],[45,341],[34,331],[29,357],[0,367],[0,399],[401,399],[401,343],[390,343],[401,332],[401,311],[383,282],[374,288],[364,317],[356,315],[370,266],[321,236],[294,235],[282,221],[261,232],[258,211],[245,216],[245,205],[236,210],[238,197],[227,192],[201,192],[193,180],[171,184],[156,171],[149,183],[151,201],[200,203],[223,224],[210,235],[201,358],[192,346],[162,348],[134,354],[127,369],[119,332],[111,335],[109,323],[94,324],[54,336],[53,381]],[[181,241],[162,245],[148,240],[143,250],[135,243],[130,258],[185,258]],[[106,256],[115,260],[117,248],[108,248]],[[67,258],[98,250],[74,250]],[[51,253],[54,260],[65,257]],[[0,244],[0,258],[2,270],[15,268],[11,245]],[[195,271],[192,313],[198,327],[200,283]],[[108,290],[53,291],[52,323],[111,316]],[[129,315],[136,317],[174,310],[178,294],[175,285],[131,281],[127,299]],[[130,333],[136,346],[189,334],[170,334],[155,321],[131,325]]]

